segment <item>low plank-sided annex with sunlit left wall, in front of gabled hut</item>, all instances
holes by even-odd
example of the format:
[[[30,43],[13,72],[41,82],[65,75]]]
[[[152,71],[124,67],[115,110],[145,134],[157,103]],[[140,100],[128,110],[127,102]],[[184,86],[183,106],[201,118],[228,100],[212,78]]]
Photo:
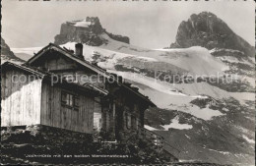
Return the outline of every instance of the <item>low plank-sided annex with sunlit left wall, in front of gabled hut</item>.
[[[59,79],[30,66],[1,66],[1,127],[45,125],[93,134],[100,91]]]

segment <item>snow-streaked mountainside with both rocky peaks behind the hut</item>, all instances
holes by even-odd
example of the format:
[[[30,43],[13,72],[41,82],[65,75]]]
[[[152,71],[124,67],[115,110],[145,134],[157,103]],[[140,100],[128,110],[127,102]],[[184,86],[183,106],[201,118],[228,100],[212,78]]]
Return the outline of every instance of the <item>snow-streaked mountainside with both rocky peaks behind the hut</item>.
[[[55,43],[74,50],[83,42],[86,60],[148,95],[158,108],[146,112],[146,128],[179,149],[165,147],[179,159],[254,163],[253,47],[206,12],[181,23],[171,48],[141,48],[127,38],[87,18],[64,23]],[[39,49],[12,48],[23,57]],[[225,83],[226,77],[233,82]],[[219,82],[210,83],[211,78]]]

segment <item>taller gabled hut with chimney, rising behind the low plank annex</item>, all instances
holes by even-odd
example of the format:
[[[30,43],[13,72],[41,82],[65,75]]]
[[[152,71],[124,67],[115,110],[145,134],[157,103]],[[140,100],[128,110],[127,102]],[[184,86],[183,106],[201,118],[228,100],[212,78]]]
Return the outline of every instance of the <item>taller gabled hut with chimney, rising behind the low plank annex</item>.
[[[138,88],[124,83],[122,77],[107,73],[86,61],[81,43],[76,44],[75,51],[50,43],[38,51],[27,64],[61,75],[74,83],[90,86],[104,94],[95,98],[95,130],[106,132],[117,139],[120,139],[121,132],[143,128],[145,110],[156,106]]]

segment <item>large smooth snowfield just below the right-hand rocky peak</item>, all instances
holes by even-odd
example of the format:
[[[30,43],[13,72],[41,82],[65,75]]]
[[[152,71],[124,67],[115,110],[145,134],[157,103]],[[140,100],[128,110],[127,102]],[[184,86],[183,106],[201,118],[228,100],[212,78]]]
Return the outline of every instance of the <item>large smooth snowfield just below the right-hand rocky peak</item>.
[[[158,49],[159,61],[175,65],[194,75],[217,75],[229,68],[219,59],[213,57],[206,48],[194,46],[182,49]],[[160,53],[161,52],[161,53]],[[151,54],[147,54],[151,56]]]

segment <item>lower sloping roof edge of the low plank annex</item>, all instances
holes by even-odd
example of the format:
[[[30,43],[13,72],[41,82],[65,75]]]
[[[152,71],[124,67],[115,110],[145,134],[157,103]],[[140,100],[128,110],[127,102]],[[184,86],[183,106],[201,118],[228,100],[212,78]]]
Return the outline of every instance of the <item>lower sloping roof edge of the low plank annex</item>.
[[[41,78],[42,80],[45,79],[45,80],[49,80],[51,81],[51,76],[52,75],[55,75],[53,73],[50,73],[50,72],[45,72],[45,71],[42,71],[42,70],[39,70],[37,68],[34,68],[32,66],[29,66],[27,64],[23,64],[23,65],[17,65],[17,64],[14,64],[14,63],[11,63],[11,62],[5,62],[1,65],[1,70],[4,71],[5,69],[7,69],[8,67],[11,67],[11,68],[17,68],[17,69],[21,69],[23,71],[26,71],[26,72],[29,72],[30,74],[32,75],[36,75],[38,76],[39,78]],[[55,75],[56,76],[56,75]],[[91,83],[89,83],[88,86],[84,86],[84,85],[81,85],[79,83],[69,83],[67,82],[65,79],[62,79],[62,80],[59,80],[58,83],[65,83],[65,84],[68,84],[68,85],[74,85],[76,87],[78,87],[79,89],[84,89],[84,90],[90,90],[90,91],[95,91],[95,92],[99,92],[101,94],[104,94],[104,95],[107,95],[108,91],[107,90],[100,90],[100,88],[92,88],[90,85],[92,85]]]

